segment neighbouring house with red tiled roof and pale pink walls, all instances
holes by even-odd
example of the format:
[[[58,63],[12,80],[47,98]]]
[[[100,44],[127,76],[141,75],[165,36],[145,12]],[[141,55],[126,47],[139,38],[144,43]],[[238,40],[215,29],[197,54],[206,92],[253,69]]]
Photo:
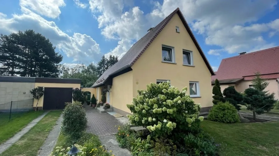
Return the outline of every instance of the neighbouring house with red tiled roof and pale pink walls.
[[[279,46],[256,51],[253,53],[239,53],[238,56],[222,59],[215,76],[211,76],[212,88],[215,79],[220,81],[221,91],[233,86],[237,91],[244,92],[252,88],[255,73],[260,72],[261,77],[269,82],[266,90],[275,93],[279,98]]]

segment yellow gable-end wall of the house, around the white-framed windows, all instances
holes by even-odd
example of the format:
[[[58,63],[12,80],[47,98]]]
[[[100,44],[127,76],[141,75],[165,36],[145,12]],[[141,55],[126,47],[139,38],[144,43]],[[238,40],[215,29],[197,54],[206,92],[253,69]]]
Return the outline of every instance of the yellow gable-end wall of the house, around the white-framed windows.
[[[180,33],[176,33],[176,26],[180,28]],[[176,64],[162,63],[162,44],[174,47]],[[183,49],[192,51],[194,66],[182,65]],[[198,81],[201,97],[193,100],[195,103],[200,103],[202,107],[213,106],[211,73],[177,14],[135,62],[132,69],[133,97],[138,94],[138,89],[146,89],[146,84],[156,83],[157,79],[170,80],[171,85],[180,90],[185,86],[188,87],[188,95],[190,94],[189,81]]]

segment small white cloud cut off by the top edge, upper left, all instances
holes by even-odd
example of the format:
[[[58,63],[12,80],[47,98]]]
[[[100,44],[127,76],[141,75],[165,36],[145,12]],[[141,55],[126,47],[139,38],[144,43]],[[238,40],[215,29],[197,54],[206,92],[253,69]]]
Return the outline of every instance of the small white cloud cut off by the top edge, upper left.
[[[59,7],[66,6],[64,0],[20,0],[19,5],[50,18],[57,18],[61,14]]]

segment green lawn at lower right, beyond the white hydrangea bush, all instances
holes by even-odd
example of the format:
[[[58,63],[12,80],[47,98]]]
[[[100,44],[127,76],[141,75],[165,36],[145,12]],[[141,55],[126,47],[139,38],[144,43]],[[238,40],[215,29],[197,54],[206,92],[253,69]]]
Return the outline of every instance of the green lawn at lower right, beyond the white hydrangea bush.
[[[202,126],[221,144],[220,155],[279,155],[279,122],[223,124],[205,120]]]

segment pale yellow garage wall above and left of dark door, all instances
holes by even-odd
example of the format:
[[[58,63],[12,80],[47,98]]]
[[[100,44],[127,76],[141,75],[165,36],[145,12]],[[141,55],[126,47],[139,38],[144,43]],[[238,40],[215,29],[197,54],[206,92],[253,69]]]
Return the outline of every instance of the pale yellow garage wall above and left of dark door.
[[[80,84],[60,84],[60,83],[35,83],[35,87],[54,87],[54,88],[80,88]],[[38,107],[43,107],[44,96],[39,100]],[[37,100],[34,100],[33,107],[37,104]]]

